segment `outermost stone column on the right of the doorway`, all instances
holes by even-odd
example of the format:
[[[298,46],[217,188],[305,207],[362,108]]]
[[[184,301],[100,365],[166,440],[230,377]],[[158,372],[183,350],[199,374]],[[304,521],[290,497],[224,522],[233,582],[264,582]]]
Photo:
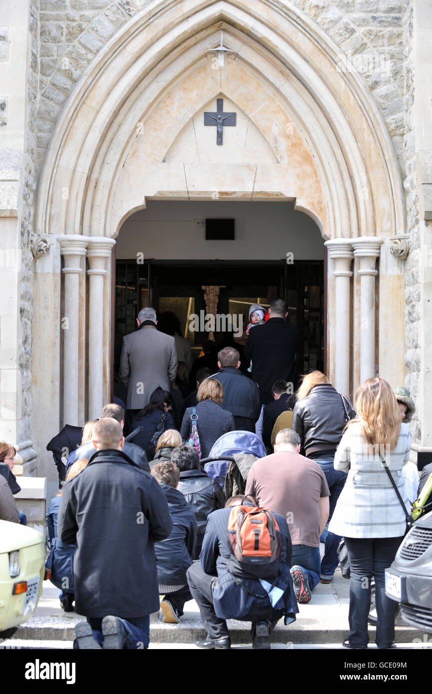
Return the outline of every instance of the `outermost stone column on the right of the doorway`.
[[[363,236],[351,239],[354,257],[360,267],[360,382],[374,378],[375,373],[375,269],[383,239]]]

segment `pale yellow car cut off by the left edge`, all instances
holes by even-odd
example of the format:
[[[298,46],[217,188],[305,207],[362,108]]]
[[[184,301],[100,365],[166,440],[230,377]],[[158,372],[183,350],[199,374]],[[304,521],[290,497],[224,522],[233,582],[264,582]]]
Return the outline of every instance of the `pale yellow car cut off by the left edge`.
[[[0,521],[0,638],[13,636],[33,615],[46,577],[45,557],[40,532]]]

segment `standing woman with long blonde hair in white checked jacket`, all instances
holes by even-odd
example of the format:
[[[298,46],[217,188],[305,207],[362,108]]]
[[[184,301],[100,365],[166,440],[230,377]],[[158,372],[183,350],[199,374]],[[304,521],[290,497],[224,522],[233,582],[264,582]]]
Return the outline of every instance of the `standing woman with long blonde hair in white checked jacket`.
[[[402,499],[402,466],[411,437],[401,423],[397,400],[387,381],[369,378],[357,390],[357,416],[349,422],[336,451],[336,470],[348,473],[329,530],[344,536],[351,565],[349,636],[345,648],[367,648],[371,579],[375,577],[378,620],[376,645],[392,648],[396,602],[385,595],[384,570],[404,539],[406,516],[383,464],[390,469]]]

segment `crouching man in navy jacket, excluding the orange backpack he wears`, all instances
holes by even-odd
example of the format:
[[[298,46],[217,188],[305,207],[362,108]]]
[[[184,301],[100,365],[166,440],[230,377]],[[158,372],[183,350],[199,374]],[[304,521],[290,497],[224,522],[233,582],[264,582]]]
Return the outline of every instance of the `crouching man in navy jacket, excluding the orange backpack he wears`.
[[[285,625],[299,611],[290,575],[292,544],[288,525],[280,514],[273,514],[281,532],[281,555],[277,579],[267,580],[267,589],[257,578],[233,576],[229,563],[233,557],[228,534],[231,507],[256,506],[251,497],[233,496],[226,508],[208,518],[200,561],[188,568],[190,592],[198,604],[207,638],[197,641],[199,648],[231,648],[227,619],[252,622],[252,648],[270,648],[270,629],[285,615]],[[269,581],[271,580],[271,584]],[[274,586],[272,596],[267,590]],[[277,594],[275,594],[277,593]]]

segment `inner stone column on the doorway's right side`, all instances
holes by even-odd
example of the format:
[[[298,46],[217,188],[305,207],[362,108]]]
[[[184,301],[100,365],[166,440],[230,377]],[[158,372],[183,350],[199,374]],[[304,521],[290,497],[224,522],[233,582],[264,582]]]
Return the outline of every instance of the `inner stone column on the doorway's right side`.
[[[329,261],[333,261],[335,278],[335,389],[349,396],[349,335],[351,325],[351,261],[354,257],[351,239],[326,241]]]

